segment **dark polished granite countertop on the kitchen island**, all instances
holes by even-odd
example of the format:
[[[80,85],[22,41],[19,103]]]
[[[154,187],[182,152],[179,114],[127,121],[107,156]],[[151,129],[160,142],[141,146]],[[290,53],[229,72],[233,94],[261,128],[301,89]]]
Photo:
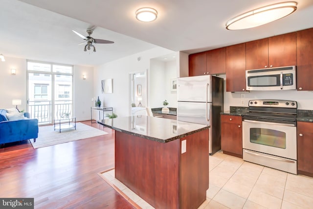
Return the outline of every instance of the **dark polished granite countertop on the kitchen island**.
[[[97,122],[116,131],[161,143],[210,128],[207,125],[150,116],[116,117]]]

